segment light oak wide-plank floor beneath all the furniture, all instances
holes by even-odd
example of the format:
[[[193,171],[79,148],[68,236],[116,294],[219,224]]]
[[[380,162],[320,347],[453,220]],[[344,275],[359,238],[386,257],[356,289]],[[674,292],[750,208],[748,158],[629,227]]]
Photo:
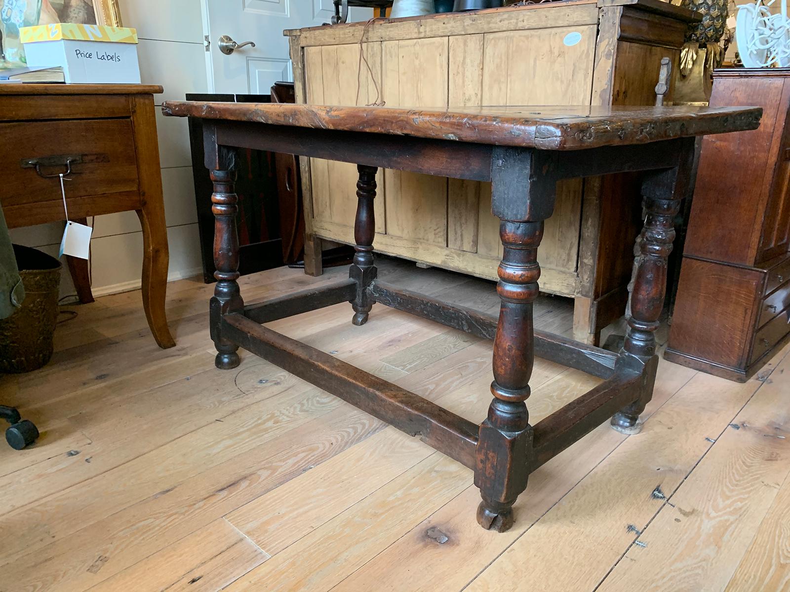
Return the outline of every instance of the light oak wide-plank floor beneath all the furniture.
[[[346,273],[240,283],[254,302]],[[498,307],[464,275],[392,260],[380,275]],[[790,590],[790,348],[746,384],[662,359],[643,431],[593,430],[532,474],[496,534],[477,526],[464,466],[246,352],[214,369],[212,290],[171,283],[171,350],[139,292],[66,307],[52,362],[0,378],[0,401],[42,431],[0,446],[0,592]],[[570,300],[541,296],[535,313],[570,335]],[[491,343],[381,305],[361,328],[351,317],[336,305],[270,326],[484,417]],[[532,422],[597,382],[537,360]]]

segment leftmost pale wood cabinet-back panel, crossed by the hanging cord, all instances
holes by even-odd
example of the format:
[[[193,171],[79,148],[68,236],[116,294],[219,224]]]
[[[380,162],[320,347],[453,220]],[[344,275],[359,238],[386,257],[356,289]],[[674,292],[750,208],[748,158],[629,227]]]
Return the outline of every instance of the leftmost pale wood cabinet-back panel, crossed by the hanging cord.
[[[307,102],[318,105],[367,105],[381,92],[382,44],[365,43],[360,60],[359,43],[305,48]],[[358,68],[358,65],[361,68]],[[372,73],[372,74],[371,74]],[[375,80],[374,80],[375,79]],[[356,165],[333,160],[310,159],[313,215],[316,219],[354,226],[356,214]],[[376,231],[386,232],[383,171],[377,175],[374,201]]]

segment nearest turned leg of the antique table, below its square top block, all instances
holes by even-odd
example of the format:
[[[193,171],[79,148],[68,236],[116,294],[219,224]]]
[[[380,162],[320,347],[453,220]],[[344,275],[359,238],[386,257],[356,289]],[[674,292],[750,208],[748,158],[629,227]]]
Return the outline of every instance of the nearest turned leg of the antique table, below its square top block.
[[[504,532],[513,526],[513,504],[527,487],[532,426],[526,399],[532,375],[532,302],[538,295],[537,249],[543,222],[502,221],[504,245],[497,292],[501,300],[494,339],[494,399],[480,424],[475,485],[483,501],[477,521]]]

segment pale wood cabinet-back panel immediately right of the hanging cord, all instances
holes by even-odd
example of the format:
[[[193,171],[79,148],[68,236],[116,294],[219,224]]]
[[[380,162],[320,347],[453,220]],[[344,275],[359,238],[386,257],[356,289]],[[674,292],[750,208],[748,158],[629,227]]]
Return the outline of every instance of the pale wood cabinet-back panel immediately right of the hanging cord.
[[[447,107],[447,37],[382,43],[387,107]],[[387,234],[447,244],[447,179],[386,170]]]

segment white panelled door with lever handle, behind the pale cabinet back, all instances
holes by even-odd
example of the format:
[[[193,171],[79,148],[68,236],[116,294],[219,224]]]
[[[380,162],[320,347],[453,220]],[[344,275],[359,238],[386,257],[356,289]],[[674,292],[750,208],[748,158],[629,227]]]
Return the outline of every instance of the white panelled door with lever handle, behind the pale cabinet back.
[[[334,14],[332,0],[203,0],[209,52],[209,92],[269,94],[276,81],[293,81],[287,28],[320,26]],[[349,21],[367,21],[373,9],[352,8]],[[252,41],[232,54],[220,51],[220,36]]]

